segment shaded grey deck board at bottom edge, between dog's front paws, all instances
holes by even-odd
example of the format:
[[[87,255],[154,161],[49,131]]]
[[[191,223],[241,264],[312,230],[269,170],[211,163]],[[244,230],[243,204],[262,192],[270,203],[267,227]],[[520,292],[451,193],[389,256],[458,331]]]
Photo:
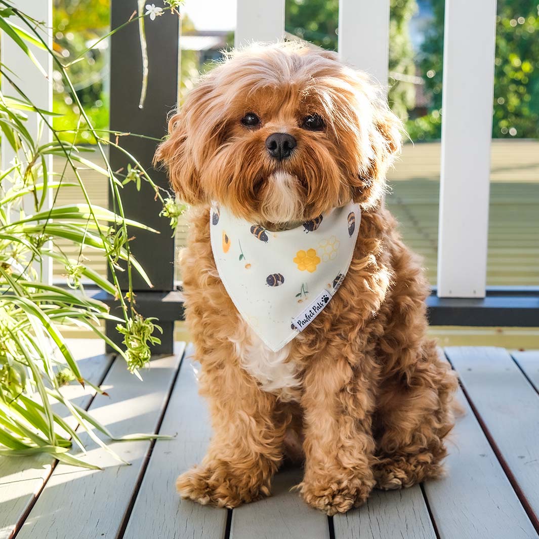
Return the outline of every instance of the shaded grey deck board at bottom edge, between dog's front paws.
[[[290,489],[303,476],[301,468],[284,469],[272,481],[272,495],[232,512],[230,539],[329,539],[328,518]]]

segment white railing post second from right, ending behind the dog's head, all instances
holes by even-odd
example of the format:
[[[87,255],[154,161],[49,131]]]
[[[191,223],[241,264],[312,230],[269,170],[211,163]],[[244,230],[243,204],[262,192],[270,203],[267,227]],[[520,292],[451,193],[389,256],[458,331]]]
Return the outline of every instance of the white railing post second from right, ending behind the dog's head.
[[[389,0],[339,0],[338,52],[343,61],[387,86]]]

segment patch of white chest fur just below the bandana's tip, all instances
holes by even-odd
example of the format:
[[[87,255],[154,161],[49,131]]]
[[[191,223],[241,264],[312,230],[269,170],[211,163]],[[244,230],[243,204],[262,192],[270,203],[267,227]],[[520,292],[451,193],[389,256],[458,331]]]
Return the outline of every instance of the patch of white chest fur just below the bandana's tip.
[[[262,390],[275,393],[281,400],[299,400],[299,369],[294,362],[287,361],[292,343],[274,352],[247,324],[245,329],[247,338],[235,343],[241,367],[257,379]]]

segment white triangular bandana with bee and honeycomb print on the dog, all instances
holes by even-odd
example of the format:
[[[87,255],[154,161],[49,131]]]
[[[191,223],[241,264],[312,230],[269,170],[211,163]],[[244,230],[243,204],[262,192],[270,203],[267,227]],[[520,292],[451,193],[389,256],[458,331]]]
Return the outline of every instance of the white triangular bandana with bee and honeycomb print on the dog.
[[[305,329],[348,272],[361,211],[350,203],[279,232],[210,210],[213,258],[239,314],[273,351]]]

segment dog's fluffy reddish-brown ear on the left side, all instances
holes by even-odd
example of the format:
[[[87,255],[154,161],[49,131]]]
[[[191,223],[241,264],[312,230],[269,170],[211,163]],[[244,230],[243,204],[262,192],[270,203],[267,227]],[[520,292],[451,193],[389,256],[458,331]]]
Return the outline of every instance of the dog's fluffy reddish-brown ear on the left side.
[[[179,112],[170,118],[168,137],[154,156],[154,164],[161,162],[167,168],[172,188],[181,201],[190,205],[208,202],[197,164],[200,155],[196,148],[203,141],[196,129],[196,116],[202,113],[210,90],[208,84],[201,83],[190,92]]]

